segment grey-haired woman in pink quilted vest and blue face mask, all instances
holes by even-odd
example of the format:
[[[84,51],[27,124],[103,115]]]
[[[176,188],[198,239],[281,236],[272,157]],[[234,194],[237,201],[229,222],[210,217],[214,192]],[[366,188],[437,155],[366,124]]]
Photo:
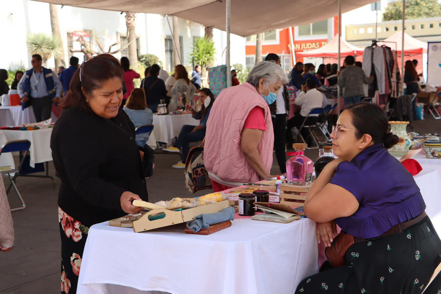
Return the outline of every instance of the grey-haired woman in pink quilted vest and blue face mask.
[[[255,66],[242,85],[222,90],[207,122],[204,165],[215,192],[272,177],[269,104],[288,79],[270,61]]]

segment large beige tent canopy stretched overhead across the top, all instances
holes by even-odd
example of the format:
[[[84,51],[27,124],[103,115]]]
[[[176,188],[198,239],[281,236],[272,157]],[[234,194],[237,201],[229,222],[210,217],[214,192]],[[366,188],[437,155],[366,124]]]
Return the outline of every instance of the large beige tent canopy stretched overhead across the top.
[[[115,11],[175,15],[225,30],[225,0],[39,0]],[[341,0],[342,13],[374,2]],[[338,15],[337,0],[231,0],[231,33],[240,36],[322,21]]]

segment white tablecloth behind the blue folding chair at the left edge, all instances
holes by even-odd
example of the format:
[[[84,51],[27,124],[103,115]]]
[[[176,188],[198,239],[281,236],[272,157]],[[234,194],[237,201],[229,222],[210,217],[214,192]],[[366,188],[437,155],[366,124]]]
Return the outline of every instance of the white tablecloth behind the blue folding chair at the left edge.
[[[7,141],[29,140],[31,142],[29,149],[29,165],[34,168],[36,163],[52,160],[52,151],[50,149],[51,133],[52,128],[33,131],[0,130],[0,146],[3,146],[3,144]],[[4,159],[3,156],[5,156],[6,159]],[[14,161],[11,154],[3,154],[1,157],[0,166],[14,166]]]

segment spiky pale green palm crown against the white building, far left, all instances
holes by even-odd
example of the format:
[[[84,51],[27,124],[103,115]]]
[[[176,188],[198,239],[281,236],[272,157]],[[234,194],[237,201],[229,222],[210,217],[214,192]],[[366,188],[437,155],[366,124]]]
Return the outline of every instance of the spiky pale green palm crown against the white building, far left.
[[[47,66],[49,58],[53,55],[59,58],[63,54],[61,41],[44,33],[31,34],[26,40],[27,51],[30,54],[40,54],[43,65]]]

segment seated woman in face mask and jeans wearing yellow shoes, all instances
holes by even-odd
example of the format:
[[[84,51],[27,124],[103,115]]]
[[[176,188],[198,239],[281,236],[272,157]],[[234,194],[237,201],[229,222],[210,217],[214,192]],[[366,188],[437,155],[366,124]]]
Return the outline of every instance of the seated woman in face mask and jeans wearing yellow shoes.
[[[192,113],[193,118],[200,120],[199,125],[183,125],[176,142],[171,147],[163,149],[163,151],[179,153],[182,148],[181,160],[177,164],[172,165],[175,169],[185,168],[185,161],[187,160],[187,155],[190,151],[189,143],[202,141],[205,137],[207,120],[215,98],[210,89],[202,88],[199,90],[199,100],[203,103],[200,111],[196,111],[190,105],[187,105],[187,110]]]

